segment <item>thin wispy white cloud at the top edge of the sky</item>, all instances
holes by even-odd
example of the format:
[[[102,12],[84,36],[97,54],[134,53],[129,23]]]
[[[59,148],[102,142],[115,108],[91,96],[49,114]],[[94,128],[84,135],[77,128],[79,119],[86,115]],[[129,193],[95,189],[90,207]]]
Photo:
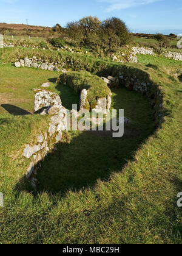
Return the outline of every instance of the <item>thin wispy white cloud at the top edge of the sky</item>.
[[[107,8],[107,12],[113,10],[127,9],[138,5],[152,4],[153,2],[159,2],[164,0],[101,0],[101,2],[108,2],[110,6]]]

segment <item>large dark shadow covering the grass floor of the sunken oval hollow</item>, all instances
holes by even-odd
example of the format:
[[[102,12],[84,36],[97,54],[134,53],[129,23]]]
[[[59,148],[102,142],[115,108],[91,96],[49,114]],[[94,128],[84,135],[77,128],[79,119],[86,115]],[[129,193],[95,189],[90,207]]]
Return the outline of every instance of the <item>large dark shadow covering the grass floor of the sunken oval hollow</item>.
[[[65,132],[62,143],[37,166],[35,194],[65,194],[68,190],[93,187],[98,179],[109,180],[110,174],[122,171],[140,144],[153,133],[153,117],[146,97],[125,88],[114,89],[112,93],[113,108],[124,109],[125,116],[132,121],[125,125],[124,136],[113,138],[112,132],[106,131]],[[32,188],[22,178],[16,190]]]

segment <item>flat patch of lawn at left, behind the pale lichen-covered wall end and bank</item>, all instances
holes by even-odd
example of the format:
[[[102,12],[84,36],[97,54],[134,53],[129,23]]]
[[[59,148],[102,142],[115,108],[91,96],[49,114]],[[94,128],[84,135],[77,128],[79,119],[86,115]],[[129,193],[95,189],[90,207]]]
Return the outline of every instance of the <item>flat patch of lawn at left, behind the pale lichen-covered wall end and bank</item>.
[[[0,76],[0,114],[25,115],[26,113],[33,113],[33,88],[41,88],[43,83],[50,82],[50,90],[59,93],[59,87],[61,86],[58,85],[58,88],[55,88],[55,81],[59,73],[54,71],[15,68],[11,64],[6,64],[0,66]],[[79,102],[78,95],[73,93],[70,88],[62,87],[60,96],[62,104],[69,110],[72,110],[70,102],[75,102],[75,104]]]

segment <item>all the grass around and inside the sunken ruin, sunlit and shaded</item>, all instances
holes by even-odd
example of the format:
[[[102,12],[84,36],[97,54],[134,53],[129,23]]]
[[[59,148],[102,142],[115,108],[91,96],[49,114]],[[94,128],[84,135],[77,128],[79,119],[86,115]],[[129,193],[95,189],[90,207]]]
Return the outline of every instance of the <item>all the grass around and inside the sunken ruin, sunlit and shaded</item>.
[[[46,126],[46,116],[15,116],[1,106],[0,243],[181,243],[182,84],[175,74],[182,73],[182,64],[143,55],[138,59],[128,66],[149,73],[164,91],[167,116],[161,129],[154,130],[144,96],[114,89],[112,107],[124,108],[132,121],[126,135],[113,140],[64,133],[42,163],[36,194],[21,182],[28,165],[21,154]],[[0,74],[3,104],[32,113],[32,88],[48,80],[65,107],[78,102],[69,87],[55,84],[57,73],[7,64],[0,66]]]

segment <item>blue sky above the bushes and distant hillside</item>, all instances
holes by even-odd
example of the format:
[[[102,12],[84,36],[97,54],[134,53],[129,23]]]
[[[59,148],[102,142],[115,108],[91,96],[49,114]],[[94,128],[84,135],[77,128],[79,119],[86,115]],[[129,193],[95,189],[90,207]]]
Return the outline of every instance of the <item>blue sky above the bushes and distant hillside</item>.
[[[0,0],[0,23],[65,27],[84,16],[116,16],[131,32],[182,33],[181,0]]]

